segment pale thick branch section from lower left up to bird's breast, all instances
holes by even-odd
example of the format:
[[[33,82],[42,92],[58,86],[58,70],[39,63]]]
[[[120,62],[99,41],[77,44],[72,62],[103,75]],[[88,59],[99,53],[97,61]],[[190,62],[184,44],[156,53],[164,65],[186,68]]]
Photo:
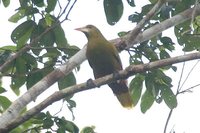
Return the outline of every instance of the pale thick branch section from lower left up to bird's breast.
[[[38,95],[44,92],[47,88],[49,88],[56,81],[69,74],[73,68],[78,66],[85,60],[85,48],[78,52],[78,54],[74,55],[69,61],[49,73],[46,77],[44,77],[41,81],[36,83],[33,87],[31,87],[26,93],[24,93],[21,97],[15,100],[12,105],[2,114],[0,117],[0,125],[1,127],[5,127],[7,123],[9,123],[12,119],[16,118],[20,111],[31,101],[35,100]],[[80,56],[81,55],[81,56]]]

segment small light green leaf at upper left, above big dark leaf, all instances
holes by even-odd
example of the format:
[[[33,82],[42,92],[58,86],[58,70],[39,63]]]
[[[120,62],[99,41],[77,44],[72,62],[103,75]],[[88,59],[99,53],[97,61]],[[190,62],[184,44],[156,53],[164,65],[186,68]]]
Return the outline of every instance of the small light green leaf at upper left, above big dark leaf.
[[[20,19],[22,19],[25,16],[25,9],[20,9],[17,13],[15,13],[14,15],[12,15],[8,21],[13,22],[13,23],[17,23]]]

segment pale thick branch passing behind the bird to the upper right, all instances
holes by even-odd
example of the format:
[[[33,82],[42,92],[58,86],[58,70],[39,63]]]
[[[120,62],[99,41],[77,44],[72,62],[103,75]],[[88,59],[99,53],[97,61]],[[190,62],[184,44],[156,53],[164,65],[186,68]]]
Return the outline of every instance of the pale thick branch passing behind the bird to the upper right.
[[[196,7],[196,15],[200,14],[200,7]],[[132,45],[143,42],[145,40],[150,39],[151,37],[159,34],[163,30],[172,27],[174,25],[177,25],[181,22],[184,22],[188,19],[191,19],[191,13],[193,11],[192,9],[188,9],[179,15],[176,15],[168,20],[165,20],[164,22],[153,26],[152,28],[144,31],[143,33],[139,34],[135,40],[131,40],[130,44],[127,44],[127,48],[131,47]],[[128,36],[125,36],[123,39],[128,39]],[[115,39],[112,40],[117,45],[122,44],[121,39]],[[10,123],[11,120],[18,117],[20,111],[32,100],[34,100],[39,94],[41,94],[43,91],[45,91],[48,87],[50,87],[53,83],[58,81],[60,78],[62,78],[64,75],[69,74],[73,68],[80,65],[85,59],[85,51],[86,47],[84,47],[82,50],[80,50],[76,55],[74,55],[65,65],[61,66],[60,68],[55,69],[53,72],[48,74],[46,77],[44,77],[41,81],[39,81],[37,84],[35,84],[32,88],[29,89],[24,95],[22,95],[20,98],[18,98],[16,101],[13,102],[13,104],[2,114],[0,117],[0,125],[1,128],[6,128],[6,125]]]

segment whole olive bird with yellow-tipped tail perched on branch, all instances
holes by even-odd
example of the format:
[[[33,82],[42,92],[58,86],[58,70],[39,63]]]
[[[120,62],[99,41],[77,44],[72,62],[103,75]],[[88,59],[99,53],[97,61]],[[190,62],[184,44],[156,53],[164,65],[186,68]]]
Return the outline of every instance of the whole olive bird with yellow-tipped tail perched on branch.
[[[76,30],[83,32],[88,39],[86,57],[93,69],[95,79],[122,70],[117,49],[105,39],[99,29],[93,25],[87,25]],[[108,85],[123,107],[133,106],[126,80],[118,80]]]

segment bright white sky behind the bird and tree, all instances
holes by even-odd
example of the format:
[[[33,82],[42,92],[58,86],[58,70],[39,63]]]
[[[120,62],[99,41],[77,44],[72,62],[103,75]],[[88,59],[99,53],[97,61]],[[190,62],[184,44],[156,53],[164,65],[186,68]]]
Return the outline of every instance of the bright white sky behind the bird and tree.
[[[122,19],[115,26],[109,26],[105,19],[102,1],[103,0],[87,0],[87,2],[82,0],[77,1],[69,16],[71,21],[66,21],[62,24],[70,44],[82,48],[87,43],[84,34],[74,30],[77,27],[82,27],[87,24],[96,25],[108,40],[116,38],[118,32],[134,28],[134,24],[127,21],[128,16],[135,11],[139,12],[140,7],[146,4],[146,0],[142,2],[135,0],[137,8],[131,8],[127,5],[126,1],[124,1],[125,11]],[[7,19],[14,14],[14,9],[17,8],[14,1],[11,1],[11,4],[12,5],[6,9],[2,4],[0,5],[0,12],[3,13],[1,14],[0,21],[0,46],[8,44],[13,45],[10,40],[10,34],[18,24],[13,24],[7,21]],[[173,33],[168,30],[167,34],[169,35],[170,32],[171,34]],[[173,56],[181,54],[181,52],[176,52]],[[122,52],[120,56],[124,67],[128,66],[127,53]],[[195,62],[190,61],[186,64],[187,70],[184,72],[183,79],[185,79],[188,71],[192,68],[194,63]],[[179,64],[179,66],[182,65]],[[200,78],[198,78],[199,69],[200,66],[198,65],[183,87],[184,89],[200,83]],[[173,80],[174,91],[176,91],[177,88],[180,72],[181,67],[179,67],[176,73],[173,71],[168,72],[168,75]],[[81,65],[81,70],[76,74],[76,78],[78,83],[93,78],[92,70],[87,61]],[[132,79],[132,77],[129,79]],[[6,89],[9,87],[7,80],[6,82],[4,80],[4,86]],[[57,86],[54,85],[38,99],[44,99],[56,89]],[[78,93],[73,97],[73,99],[77,103],[77,107],[74,109],[75,124],[80,128],[94,125],[96,127],[95,131],[98,133],[161,133],[164,130],[164,125],[169,113],[169,109],[164,102],[161,104],[154,103],[146,114],[141,113],[139,104],[131,110],[124,109],[106,85],[101,88]],[[174,128],[176,133],[199,132],[199,101],[199,87],[195,88],[193,93],[180,95],[178,97],[178,107],[173,112],[168,131]],[[35,103],[32,103],[31,105],[33,104]],[[53,112],[58,112],[60,108],[60,102],[56,102],[49,107]],[[71,114],[67,108],[64,108],[60,115],[64,115],[66,119],[71,120]]]

